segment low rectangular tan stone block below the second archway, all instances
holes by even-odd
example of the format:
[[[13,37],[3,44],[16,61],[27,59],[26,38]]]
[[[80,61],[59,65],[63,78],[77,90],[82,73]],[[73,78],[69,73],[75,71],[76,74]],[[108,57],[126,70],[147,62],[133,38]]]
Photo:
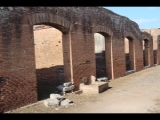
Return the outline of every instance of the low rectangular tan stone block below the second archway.
[[[83,93],[88,94],[99,94],[108,89],[108,82],[94,82],[90,85],[80,84],[80,90],[83,90]]]

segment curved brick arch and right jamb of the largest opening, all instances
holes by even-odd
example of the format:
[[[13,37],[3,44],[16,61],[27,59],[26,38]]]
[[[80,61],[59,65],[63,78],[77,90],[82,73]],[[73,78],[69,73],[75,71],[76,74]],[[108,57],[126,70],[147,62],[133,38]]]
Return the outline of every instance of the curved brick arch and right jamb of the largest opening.
[[[71,60],[71,38],[70,31],[72,24],[65,18],[52,13],[33,13],[29,16],[30,25],[49,25],[62,32],[63,58],[64,58],[64,78],[65,81],[72,81],[72,60]]]

